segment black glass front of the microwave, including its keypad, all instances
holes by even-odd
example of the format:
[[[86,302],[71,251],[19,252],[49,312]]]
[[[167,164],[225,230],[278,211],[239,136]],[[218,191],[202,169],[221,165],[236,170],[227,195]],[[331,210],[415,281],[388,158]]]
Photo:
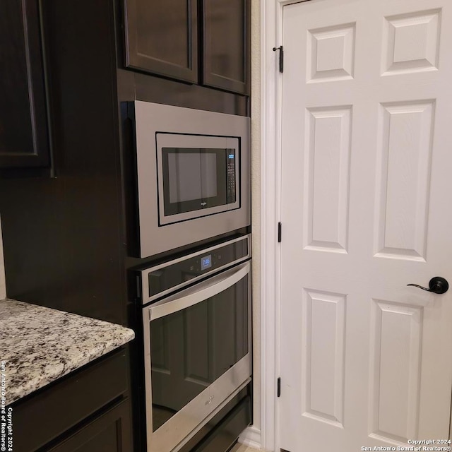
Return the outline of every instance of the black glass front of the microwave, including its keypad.
[[[235,160],[235,149],[162,148],[165,216],[235,202]]]

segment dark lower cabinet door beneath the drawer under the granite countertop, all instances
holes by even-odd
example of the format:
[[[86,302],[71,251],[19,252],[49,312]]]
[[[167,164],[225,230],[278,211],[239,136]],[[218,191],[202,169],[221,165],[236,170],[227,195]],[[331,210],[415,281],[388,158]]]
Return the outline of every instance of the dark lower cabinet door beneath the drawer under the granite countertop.
[[[129,400],[69,436],[49,452],[132,452]]]

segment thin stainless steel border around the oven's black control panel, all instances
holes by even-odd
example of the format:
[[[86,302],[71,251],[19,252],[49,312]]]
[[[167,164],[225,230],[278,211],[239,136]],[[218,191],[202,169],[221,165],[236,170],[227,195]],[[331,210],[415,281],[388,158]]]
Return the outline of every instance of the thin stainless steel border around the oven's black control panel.
[[[235,242],[240,242],[241,240],[246,240],[247,242],[247,248],[248,248],[248,254],[244,256],[243,258],[237,259],[237,261],[225,263],[224,266],[214,268],[213,270],[206,271],[206,273],[203,273],[202,275],[196,276],[196,278],[193,278],[189,281],[185,281],[184,283],[181,283],[177,286],[171,287],[167,290],[164,290],[163,292],[160,292],[156,295],[153,295],[152,297],[149,296],[149,274],[153,273],[154,271],[160,270],[160,268],[165,268],[168,266],[173,265],[174,263],[186,261],[187,259],[194,258],[196,256],[203,256],[206,253],[209,253],[210,251],[215,251],[215,249],[220,249],[223,246],[227,246],[228,244],[233,244]],[[236,263],[246,261],[246,259],[251,257],[251,234],[248,234],[244,237],[239,237],[237,239],[230,240],[228,242],[223,242],[222,244],[210,246],[210,248],[203,249],[202,251],[197,251],[196,253],[189,254],[188,256],[184,256],[178,259],[174,259],[174,261],[169,261],[165,263],[161,263],[160,265],[153,266],[151,268],[146,268],[145,270],[141,270],[139,273],[141,273],[141,297],[142,297],[142,304],[148,304],[149,302],[152,302],[154,299],[160,298],[164,295],[170,294],[174,292],[177,289],[180,289],[182,287],[185,287],[186,285],[196,283],[196,281],[201,280],[203,278],[206,278],[208,275],[214,275],[215,273],[218,273],[221,270],[224,270],[227,267],[233,266]]]

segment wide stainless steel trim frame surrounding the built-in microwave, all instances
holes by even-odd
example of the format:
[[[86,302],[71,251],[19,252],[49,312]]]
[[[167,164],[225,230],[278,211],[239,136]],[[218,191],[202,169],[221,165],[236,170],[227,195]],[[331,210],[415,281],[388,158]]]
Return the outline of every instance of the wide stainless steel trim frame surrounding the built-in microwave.
[[[134,101],[138,225],[142,258],[232,232],[251,223],[250,119],[234,114]],[[184,222],[159,225],[156,133],[240,138],[240,207]]]

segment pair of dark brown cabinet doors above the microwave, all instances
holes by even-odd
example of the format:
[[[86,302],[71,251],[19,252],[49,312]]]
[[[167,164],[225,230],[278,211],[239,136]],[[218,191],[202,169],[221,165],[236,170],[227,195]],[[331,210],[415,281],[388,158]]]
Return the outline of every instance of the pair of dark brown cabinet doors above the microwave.
[[[249,0],[125,0],[126,66],[249,95],[250,11]]]

